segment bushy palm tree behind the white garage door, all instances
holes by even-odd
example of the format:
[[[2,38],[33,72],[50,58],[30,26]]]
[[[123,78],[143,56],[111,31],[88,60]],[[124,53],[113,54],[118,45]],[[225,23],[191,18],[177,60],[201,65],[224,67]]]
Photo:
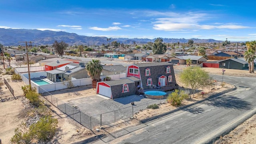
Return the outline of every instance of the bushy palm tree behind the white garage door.
[[[86,70],[92,80],[98,81],[100,79],[100,73],[102,72],[102,69],[103,68],[100,64],[100,60],[92,59],[92,61],[88,62],[86,65]]]

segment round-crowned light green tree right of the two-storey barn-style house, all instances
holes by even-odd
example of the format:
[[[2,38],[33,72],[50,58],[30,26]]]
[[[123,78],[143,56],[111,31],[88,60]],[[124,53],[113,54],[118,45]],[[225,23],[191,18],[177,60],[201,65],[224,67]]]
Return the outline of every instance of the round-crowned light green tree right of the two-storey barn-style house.
[[[192,88],[193,97],[195,90],[205,86],[209,79],[208,72],[202,70],[199,66],[189,66],[180,73],[181,82]]]

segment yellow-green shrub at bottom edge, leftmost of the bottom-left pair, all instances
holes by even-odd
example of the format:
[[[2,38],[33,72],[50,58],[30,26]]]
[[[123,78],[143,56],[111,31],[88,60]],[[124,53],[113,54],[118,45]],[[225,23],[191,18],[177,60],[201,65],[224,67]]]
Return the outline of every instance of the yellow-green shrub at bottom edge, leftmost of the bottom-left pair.
[[[14,130],[14,136],[11,138],[11,143],[13,144],[30,144],[33,138],[33,134],[28,131],[25,123],[20,125],[20,128]]]

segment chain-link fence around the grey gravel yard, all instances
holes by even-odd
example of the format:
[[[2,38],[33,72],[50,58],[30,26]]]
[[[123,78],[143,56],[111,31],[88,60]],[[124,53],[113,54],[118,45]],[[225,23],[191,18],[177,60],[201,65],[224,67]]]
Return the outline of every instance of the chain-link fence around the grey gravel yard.
[[[41,88],[42,89],[42,88]],[[111,112],[106,112],[102,114],[97,114],[94,116],[90,116],[89,114],[85,114],[80,110],[76,109],[75,106],[70,106],[66,104],[62,100],[54,97],[52,94],[47,92],[46,90],[42,89],[43,93],[42,96],[56,106],[59,110],[61,110],[64,114],[70,116],[76,120],[76,122],[82,124],[86,128],[93,130],[94,128],[99,128],[108,124],[112,124],[114,122],[125,120],[132,118],[135,112],[139,112],[140,110],[148,110],[148,106],[152,104],[157,104],[161,108],[162,102],[166,102],[166,97],[151,100],[148,99],[147,102],[140,103],[138,105],[128,106],[126,108],[114,110]]]

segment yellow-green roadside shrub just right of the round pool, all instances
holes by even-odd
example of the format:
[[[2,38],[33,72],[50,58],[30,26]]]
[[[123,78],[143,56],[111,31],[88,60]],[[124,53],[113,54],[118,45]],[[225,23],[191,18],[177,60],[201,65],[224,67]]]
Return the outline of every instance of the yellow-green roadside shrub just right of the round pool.
[[[173,106],[178,106],[185,98],[188,98],[187,92],[181,90],[179,93],[179,90],[175,90],[174,92],[168,95],[167,102],[171,103]]]

